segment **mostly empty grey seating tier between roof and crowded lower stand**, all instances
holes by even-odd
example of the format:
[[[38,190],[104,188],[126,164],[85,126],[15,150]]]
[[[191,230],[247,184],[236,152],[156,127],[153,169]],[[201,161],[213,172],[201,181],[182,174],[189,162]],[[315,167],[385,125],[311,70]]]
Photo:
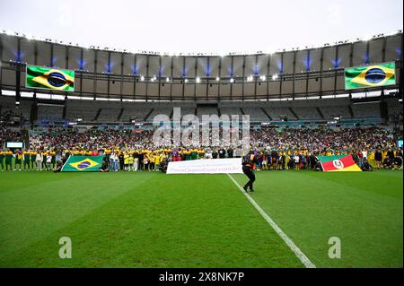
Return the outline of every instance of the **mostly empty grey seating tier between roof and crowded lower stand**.
[[[180,108],[175,111],[174,108]],[[198,102],[126,102],[103,100],[33,100],[14,96],[0,96],[0,121],[14,125],[34,126],[132,125],[152,123],[156,116],[171,120],[193,115],[202,121],[203,116],[249,116],[250,122],[277,123],[346,122],[402,123],[402,101],[381,97],[362,100],[333,98],[321,100],[278,101],[223,101]]]

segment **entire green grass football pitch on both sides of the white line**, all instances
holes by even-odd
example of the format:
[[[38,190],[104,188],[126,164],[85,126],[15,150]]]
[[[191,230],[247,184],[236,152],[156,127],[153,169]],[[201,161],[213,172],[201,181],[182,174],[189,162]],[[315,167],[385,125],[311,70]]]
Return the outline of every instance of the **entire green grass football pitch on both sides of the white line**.
[[[402,267],[402,180],[261,171],[250,197],[317,267]],[[292,248],[225,174],[0,173],[0,267],[304,267]]]

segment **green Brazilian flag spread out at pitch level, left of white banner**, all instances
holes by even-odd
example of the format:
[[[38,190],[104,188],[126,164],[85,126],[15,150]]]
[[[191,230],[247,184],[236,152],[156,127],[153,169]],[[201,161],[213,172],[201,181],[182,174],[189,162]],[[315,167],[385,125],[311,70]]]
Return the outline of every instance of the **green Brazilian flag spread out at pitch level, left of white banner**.
[[[61,172],[97,172],[104,156],[70,156]]]

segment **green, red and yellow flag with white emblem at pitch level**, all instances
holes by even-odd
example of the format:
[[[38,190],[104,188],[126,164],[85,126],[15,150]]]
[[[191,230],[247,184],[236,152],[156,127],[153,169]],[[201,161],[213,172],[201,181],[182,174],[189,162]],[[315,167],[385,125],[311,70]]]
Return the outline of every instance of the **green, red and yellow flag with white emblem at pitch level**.
[[[351,155],[318,156],[324,172],[361,172]]]

